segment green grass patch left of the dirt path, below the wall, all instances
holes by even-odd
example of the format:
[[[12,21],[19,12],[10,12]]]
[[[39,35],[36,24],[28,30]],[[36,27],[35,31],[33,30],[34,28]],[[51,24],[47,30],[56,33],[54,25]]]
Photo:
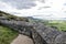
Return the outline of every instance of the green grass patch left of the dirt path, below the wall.
[[[18,34],[18,32],[0,25],[0,44],[10,44]]]

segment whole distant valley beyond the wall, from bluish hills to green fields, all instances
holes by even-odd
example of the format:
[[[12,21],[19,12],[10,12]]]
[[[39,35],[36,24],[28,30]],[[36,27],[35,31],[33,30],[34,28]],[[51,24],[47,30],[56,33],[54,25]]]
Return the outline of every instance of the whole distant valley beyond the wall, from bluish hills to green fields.
[[[66,32],[66,21],[64,20],[36,20],[36,19],[29,19],[30,22],[41,22],[46,26],[57,29],[58,31]]]

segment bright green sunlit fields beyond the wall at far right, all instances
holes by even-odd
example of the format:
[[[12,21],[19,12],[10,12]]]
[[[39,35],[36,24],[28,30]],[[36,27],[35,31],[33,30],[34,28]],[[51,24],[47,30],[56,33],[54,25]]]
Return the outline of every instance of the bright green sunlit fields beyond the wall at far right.
[[[47,26],[54,26],[57,28],[58,31],[66,32],[66,21],[51,21],[50,23],[46,23]]]

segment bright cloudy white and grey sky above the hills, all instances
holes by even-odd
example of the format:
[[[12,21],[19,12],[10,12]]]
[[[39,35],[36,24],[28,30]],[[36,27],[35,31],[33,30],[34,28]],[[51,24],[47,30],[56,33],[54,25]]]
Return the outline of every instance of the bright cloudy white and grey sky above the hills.
[[[66,20],[66,0],[0,0],[0,10],[46,20]]]

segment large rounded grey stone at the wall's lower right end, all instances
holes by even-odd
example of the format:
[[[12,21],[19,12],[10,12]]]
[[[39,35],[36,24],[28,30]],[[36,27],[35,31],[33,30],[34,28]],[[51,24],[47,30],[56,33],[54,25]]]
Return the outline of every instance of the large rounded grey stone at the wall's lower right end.
[[[66,44],[66,33],[59,34],[59,35],[55,38],[55,44]]]

